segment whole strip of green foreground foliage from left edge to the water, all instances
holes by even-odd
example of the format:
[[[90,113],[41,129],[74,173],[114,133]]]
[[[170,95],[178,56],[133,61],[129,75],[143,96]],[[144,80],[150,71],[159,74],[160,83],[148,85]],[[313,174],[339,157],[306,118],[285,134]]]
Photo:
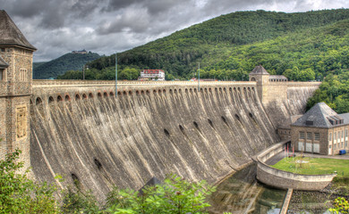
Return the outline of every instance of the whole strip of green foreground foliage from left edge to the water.
[[[16,150],[0,161],[0,214],[1,213],[113,213],[113,214],[184,214],[207,213],[206,197],[216,187],[202,180],[189,183],[181,177],[170,175],[164,184],[147,186],[143,194],[130,189],[114,189],[108,193],[106,204],[98,204],[90,192],[68,187],[58,192],[52,185],[36,184],[19,174],[22,162],[16,162],[20,155]],[[54,193],[63,195],[62,206],[57,206]],[[102,209],[101,209],[102,208]]]

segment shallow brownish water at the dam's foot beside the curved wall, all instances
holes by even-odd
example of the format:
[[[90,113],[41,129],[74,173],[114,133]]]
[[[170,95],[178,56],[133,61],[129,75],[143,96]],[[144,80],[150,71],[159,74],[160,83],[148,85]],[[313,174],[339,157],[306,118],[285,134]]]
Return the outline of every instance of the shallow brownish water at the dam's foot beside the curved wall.
[[[209,213],[279,213],[285,193],[285,190],[258,183],[256,164],[253,163],[217,186],[217,192],[209,198],[212,205]]]

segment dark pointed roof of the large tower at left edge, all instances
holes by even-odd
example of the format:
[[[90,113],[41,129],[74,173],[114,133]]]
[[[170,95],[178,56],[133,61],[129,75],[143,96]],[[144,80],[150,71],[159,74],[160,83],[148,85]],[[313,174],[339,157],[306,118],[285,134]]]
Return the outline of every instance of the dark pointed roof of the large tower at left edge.
[[[33,45],[30,45],[21,30],[17,28],[4,10],[0,10],[0,45],[19,45],[32,51],[37,50]]]

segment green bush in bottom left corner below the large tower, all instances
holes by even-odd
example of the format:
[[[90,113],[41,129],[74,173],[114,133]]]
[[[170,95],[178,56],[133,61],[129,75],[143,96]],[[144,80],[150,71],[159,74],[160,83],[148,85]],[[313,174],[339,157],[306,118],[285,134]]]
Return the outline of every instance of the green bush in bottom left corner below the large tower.
[[[16,150],[0,160],[0,213],[57,213],[55,187],[37,184],[19,174],[23,162],[16,162],[21,151]]]

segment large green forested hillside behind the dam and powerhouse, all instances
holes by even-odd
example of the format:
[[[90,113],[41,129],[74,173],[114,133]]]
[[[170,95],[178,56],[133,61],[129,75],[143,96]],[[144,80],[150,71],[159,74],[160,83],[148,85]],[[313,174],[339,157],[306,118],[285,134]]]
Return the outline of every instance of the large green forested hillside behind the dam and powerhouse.
[[[261,64],[270,74],[283,74],[289,80],[322,81],[349,70],[348,45],[347,9],[233,12],[118,53],[118,78],[135,79],[140,70],[162,69],[166,79],[188,79],[197,75],[200,62],[200,78],[247,80]],[[115,54],[88,64],[87,78],[115,79]],[[81,71],[72,70],[59,78],[81,78]],[[322,86],[321,93],[317,92],[322,98],[313,101],[339,110],[336,99],[342,99],[344,107],[339,112],[348,109],[347,80],[338,82],[341,89],[333,89],[336,84],[331,87],[336,93]],[[330,96],[324,100],[324,95]]]

